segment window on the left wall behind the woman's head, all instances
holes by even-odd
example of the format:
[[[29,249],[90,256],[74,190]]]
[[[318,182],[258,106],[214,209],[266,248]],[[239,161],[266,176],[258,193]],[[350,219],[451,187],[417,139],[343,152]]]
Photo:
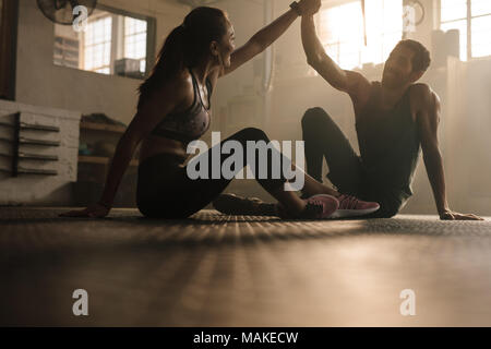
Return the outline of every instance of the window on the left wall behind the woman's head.
[[[153,19],[98,5],[83,32],[55,24],[53,62],[143,79],[153,64],[154,31]]]

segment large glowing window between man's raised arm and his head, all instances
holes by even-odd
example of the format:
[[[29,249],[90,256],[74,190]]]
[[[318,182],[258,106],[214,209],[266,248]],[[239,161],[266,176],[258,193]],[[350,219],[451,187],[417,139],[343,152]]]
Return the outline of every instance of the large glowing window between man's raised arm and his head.
[[[366,0],[367,46],[360,0],[323,9],[319,21],[321,41],[343,69],[382,63],[403,37],[403,1]]]

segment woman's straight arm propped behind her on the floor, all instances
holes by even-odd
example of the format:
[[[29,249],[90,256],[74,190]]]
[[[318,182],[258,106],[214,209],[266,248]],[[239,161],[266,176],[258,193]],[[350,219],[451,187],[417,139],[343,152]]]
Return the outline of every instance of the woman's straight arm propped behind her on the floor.
[[[121,179],[140,142],[152,132],[163,117],[176,107],[192,103],[192,99],[190,99],[193,96],[192,88],[190,81],[176,81],[164,86],[158,93],[154,93],[154,96],[151,96],[136,112],[119,140],[99,202],[85,209],[71,210],[60,216],[105,217],[112,206]]]

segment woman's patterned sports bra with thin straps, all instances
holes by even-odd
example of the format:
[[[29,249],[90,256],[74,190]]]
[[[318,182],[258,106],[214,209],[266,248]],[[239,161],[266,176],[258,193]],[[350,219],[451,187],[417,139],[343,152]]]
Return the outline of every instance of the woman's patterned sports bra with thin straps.
[[[208,91],[208,108],[206,109],[203,105],[197,81],[191,69],[189,69],[189,72],[193,81],[193,104],[184,111],[167,115],[152,131],[152,135],[163,136],[188,144],[200,139],[208,130],[211,122],[208,111],[212,107],[211,95],[213,92],[212,82],[206,77],[206,89]]]

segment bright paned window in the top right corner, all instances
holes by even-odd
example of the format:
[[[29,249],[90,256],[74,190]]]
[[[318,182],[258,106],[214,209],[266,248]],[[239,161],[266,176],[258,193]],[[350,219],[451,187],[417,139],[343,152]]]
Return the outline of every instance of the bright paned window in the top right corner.
[[[459,31],[462,61],[491,56],[490,0],[440,0],[440,28]]]

